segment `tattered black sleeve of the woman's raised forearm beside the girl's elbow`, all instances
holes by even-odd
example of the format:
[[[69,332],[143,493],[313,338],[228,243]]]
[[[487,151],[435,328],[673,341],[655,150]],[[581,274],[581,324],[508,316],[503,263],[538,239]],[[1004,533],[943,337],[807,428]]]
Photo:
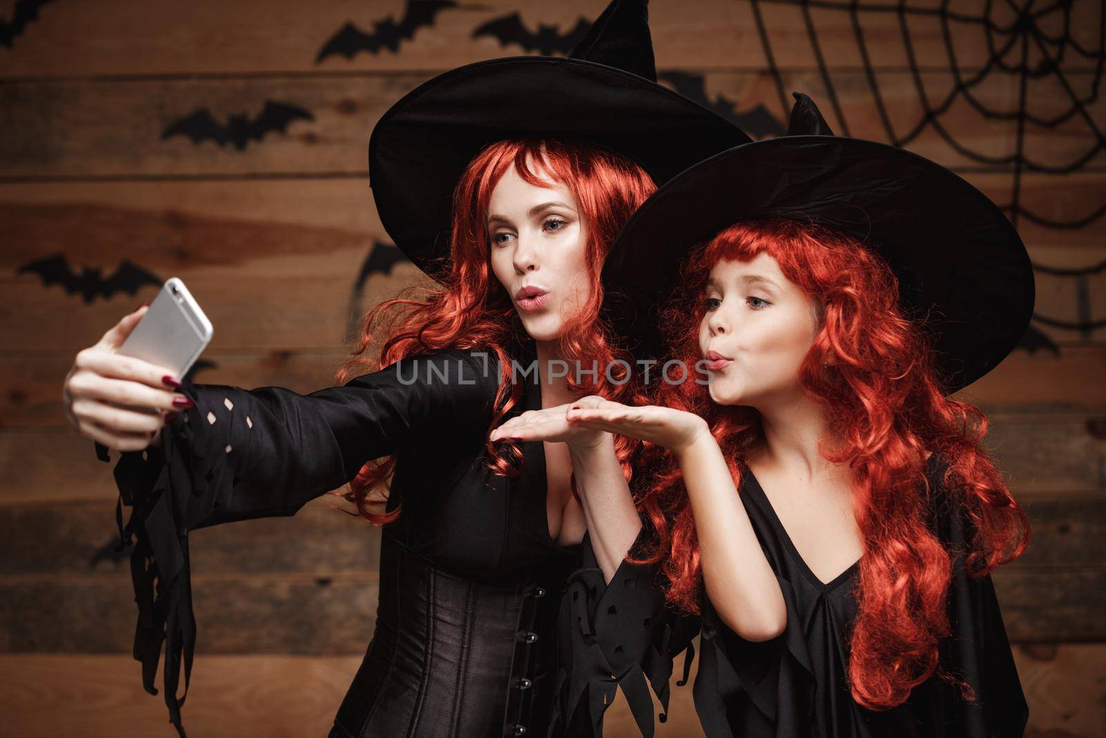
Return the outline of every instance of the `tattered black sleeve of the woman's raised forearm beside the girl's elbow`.
[[[648,533],[643,526],[628,558],[639,559]],[[603,714],[622,687],[641,735],[654,735],[653,696],[667,718],[672,661],[687,651],[682,685],[695,657],[691,640],[698,619],[665,604],[658,564],[624,560],[611,583],[595,560],[589,537],[581,545],[580,568],[568,579],[557,622],[560,662],[550,737],[603,735]]]

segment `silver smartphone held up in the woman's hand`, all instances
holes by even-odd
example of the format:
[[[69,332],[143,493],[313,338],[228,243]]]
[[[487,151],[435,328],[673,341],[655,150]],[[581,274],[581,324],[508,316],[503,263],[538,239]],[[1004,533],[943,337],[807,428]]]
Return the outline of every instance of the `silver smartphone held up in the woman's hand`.
[[[184,378],[213,332],[185,283],[171,277],[115,353],[164,366]]]

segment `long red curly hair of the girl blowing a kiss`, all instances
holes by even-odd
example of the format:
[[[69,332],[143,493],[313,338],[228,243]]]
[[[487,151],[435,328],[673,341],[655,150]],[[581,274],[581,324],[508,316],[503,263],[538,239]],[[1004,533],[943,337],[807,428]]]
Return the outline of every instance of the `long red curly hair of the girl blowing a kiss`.
[[[825,408],[826,441],[833,443],[822,444],[823,456],[853,471],[853,507],[864,538],[848,659],[853,697],[869,709],[894,707],[936,671],[972,699],[967,684],[938,664],[938,640],[949,634],[952,559],[926,522],[926,459],[930,453],[947,459],[951,503],[963,506],[973,523],[968,573],[983,576],[1020,555],[1029,543],[1029,520],[980,447],[987,418],[978,407],[946,396],[925,329],[899,308],[887,263],[853,238],[792,219],[734,224],[689,254],[662,321],[672,355],[685,366],[701,358],[702,293],[711,269],[721,260],[748,261],[760,253],[775,259],[815,301],[821,325],[799,383]],[[835,362],[825,371],[831,358]],[[745,451],[762,440],[757,410],[718,405],[705,385],[690,381],[660,383],[656,395],[656,404],[707,419],[740,486]],[[659,544],[643,560],[661,561],[669,602],[697,613],[699,547],[679,467],[651,445],[645,456],[657,471],[644,486],[639,478],[639,507]]]

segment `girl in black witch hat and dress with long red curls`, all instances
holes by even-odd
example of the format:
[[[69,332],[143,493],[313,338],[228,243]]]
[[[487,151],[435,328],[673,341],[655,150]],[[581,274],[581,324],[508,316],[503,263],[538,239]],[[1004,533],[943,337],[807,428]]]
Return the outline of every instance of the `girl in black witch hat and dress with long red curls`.
[[[787,136],[674,178],[608,258],[659,261],[654,284],[632,287],[655,299],[666,260],[706,240],[667,313],[685,381],[659,383],[657,405],[580,403],[565,423],[667,449],[643,480],[658,539],[643,559],[669,603],[701,613],[708,736],[1021,736],[990,572],[1029,524],[979,446],[985,418],[946,395],[1023,334],[1027,254],[959,177],[833,136],[796,98]],[[544,435],[521,420],[499,434]],[[740,584],[760,567],[744,560],[747,521],[785,605],[768,640],[739,631],[758,604]],[[661,616],[658,593],[596,596],[617,628],[635,624],[625,611]],[[634,654],[647,672],[682,644],[649,645]]]

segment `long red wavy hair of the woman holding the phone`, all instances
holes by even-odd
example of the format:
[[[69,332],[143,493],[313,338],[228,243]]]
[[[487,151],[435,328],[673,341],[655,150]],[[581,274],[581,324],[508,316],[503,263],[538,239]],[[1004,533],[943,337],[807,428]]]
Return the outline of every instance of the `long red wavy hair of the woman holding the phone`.
[[[581,372],[581,378],[586,380],[581,383],[575,382],[576,373],[570,372],[568,388],[577,396],[594,393],[624,398],[620,402],[627,403],[644,401],[640,384],[622,371],[633,364],[633,357],[598,319],[604,295],[599,273],[615,235],[656,185],[640,166],[615,152],[589,144],[539,138],[491,144],[469,163],[453,190],[449,257],[439,260],[436,270],[431,268],[439,274],[439,282],[413,285],[405,295],[373,308],[351,351],[353,358],[335,375],[336,384],[427,351],[491,349],[499,356],[501,374],[488,432],[518,403],[522,385],[511,381],[508,346],[520,337],[526,340],[526,334],[510,295],[491,270],[491,235],[487,226],[492,190],[512,166],[525,181],[539,187],[549,187],[540,178],[542,171],[563,183],[580,208],[592,289],[588,301],[565,321],[560,351],[570,364],[580,361],[587,368],[597,362],[599,371],[591,378]],[[375,358],[365,355],[374,340],[382,340]],[[612,382],[602,367],[616,360],[627,363],[615,365],[618,368],[612,370]],[[627,479],[632,478],[629,458],[639,446],[632,438],[615,438],[615,450]],[[487,448],[489,465],[495,474],[519,474],[522,455],[518,444],[487,443]],[[392,522],[399,516],[401,503],[390,510],[380,508],[387,506],[395,460],[390,456],[367,462],[349,482],[349,490],[335,495],[353,502],[357,514],[374,524]],[[572,484],[575,491],[575,477]]]

